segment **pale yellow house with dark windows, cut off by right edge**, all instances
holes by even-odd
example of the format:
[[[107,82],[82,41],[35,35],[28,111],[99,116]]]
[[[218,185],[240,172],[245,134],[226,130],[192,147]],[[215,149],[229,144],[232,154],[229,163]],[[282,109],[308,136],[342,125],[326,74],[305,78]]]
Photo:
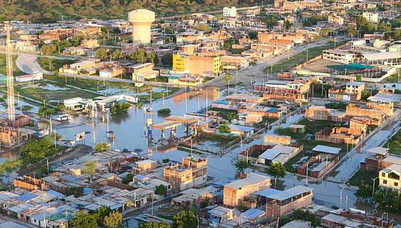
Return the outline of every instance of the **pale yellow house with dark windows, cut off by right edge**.
[[[392,164],[379,172],[379,185],[401,192],[401,165]]]

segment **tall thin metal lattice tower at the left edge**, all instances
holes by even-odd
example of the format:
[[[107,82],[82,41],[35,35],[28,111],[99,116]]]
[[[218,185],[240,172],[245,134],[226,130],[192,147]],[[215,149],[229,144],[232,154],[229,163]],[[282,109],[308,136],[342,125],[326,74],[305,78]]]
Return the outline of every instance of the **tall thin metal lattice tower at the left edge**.
[[[15,121],[15,104],[14,104],[14,77],[12,75],[12,45],[11,45],[11,25],[10,23],[4,24],[6,30],[6,68],[7,68],[7,102],[8,102],[8,121]]]

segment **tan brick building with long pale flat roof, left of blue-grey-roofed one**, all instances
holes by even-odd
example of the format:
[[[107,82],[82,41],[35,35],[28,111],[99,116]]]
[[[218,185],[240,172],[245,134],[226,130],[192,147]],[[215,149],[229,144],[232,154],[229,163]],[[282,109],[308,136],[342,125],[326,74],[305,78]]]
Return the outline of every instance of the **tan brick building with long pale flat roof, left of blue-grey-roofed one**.
[[[236,207],[245,196],[268,187],[270,187],[270,177],[257,173],[249,173],[248,177],[244,179],[224,185],[223,204]]]

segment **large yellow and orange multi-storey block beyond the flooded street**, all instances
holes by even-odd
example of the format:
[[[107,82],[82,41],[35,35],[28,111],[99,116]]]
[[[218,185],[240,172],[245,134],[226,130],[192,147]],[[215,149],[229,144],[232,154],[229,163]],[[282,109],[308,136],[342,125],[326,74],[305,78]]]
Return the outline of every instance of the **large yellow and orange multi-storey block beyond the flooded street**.
[[[175,52],[173,54],[173,70],[187,71],[192,75],[210,75],[217,77],[221,73],[220,56],[204,56],[199,53],[187,55]]]

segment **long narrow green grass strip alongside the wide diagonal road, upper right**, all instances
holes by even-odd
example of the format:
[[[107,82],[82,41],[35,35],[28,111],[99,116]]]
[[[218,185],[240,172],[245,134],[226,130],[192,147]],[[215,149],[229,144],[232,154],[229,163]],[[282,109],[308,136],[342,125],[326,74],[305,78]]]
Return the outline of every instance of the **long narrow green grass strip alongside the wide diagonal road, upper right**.
[[[341,46],[342,44],[345,44],[345,43],[346,43],[346,41],[337,41],[336,47]],[[308,49],[308,59],[313,59],[313,58],[317,57],[318,55],[321,55],[321,52],[323,50],[330,49],[330,48],[334,48],[334,41],[329,41],[328,44],[326,44],[324,46],[309,48]],[[265,71],[265,73],[270,72],[270,70],[272,70],[272,73],[288,71],[291,68],[306,62],[306,56],[307,56],[306,54],[307,54],[307,51],[304,50],[303,52],[298,53],[297,55],[293,55],[292,57],[290,57],[290,59],[279,62],[279,64],[275,64],[273,66],[266,67],[264,71]]]

